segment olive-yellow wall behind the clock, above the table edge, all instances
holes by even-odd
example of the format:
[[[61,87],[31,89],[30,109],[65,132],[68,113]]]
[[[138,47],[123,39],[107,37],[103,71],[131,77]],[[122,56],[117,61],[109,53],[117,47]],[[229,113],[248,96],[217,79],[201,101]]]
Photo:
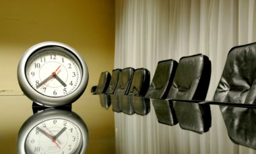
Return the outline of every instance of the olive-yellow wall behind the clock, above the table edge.
[[[28,48],[46,41],[62,42],[82,54],[90,92],[100,72],[113,70],[115,0],[1,1],[0,92],[21,92],[18,62]]]

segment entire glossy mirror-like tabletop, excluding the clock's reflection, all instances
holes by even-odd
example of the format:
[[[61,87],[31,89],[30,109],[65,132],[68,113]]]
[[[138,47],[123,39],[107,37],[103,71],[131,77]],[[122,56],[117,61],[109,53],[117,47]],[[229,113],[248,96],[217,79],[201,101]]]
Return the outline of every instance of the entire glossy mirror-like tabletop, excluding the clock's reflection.
[[[0,102],[1,153],[18,153],[32,101],[11,93],[0,95]],[[84,94],[71,110],[88,127],[86,153],[207,153],[224,143],[248,153],[256,149],[254,108]]]

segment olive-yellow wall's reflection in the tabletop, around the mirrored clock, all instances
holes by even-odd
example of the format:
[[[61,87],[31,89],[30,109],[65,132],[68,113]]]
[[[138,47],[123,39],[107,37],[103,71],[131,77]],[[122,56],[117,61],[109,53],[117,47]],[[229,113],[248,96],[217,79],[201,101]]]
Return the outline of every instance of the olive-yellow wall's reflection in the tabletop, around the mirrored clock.
[[[18,94],[0,95],[0,152],[18,153],[17,138],[20,127],[33,115],[32,101]],[[115,119],[112,110],[102,108],[98,96],[84,94],[72,104],[72,111],[88,127],[86,153],[115,153]]]

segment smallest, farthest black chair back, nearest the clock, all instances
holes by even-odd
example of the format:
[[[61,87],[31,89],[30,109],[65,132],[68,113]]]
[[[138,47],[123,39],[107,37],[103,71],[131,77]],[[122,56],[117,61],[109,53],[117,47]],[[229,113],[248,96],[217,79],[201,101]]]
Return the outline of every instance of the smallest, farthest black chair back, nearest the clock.
[[[111,75],[109,72],[107,72],[107,71],[101,72],[95,93],[96,94],[104,94],[106,92],[106,89],[108,88],[110,79],[111,79]]]

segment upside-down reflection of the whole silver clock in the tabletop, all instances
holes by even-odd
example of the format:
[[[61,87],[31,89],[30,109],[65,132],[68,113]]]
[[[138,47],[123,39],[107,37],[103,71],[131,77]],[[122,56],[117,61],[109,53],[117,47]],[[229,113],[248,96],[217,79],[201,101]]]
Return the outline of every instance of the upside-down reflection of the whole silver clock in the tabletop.
[[[46,108],[33,102],[34,114],[18,133],[18,153],[85,153],[88,129],[71,105]]]

